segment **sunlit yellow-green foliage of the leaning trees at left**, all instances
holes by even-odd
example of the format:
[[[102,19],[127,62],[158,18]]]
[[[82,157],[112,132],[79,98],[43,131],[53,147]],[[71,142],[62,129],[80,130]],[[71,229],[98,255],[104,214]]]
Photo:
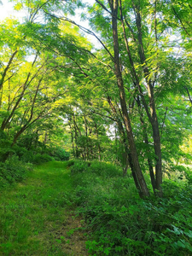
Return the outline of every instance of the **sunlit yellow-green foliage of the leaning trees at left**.
[[[37,53],[32,33],[27,34],[28,25],[32,27],[29,23],[20,26],[12,20],[2,25],[2,29],[11,27],[9,32],[13,37],[9,39],[9,35],[3,34],[2,38],[0,125],[3,131],[9,132],[13,144],[29,127],[35,129],[36,122],[39,125],[39,120],[47,116],[52,118],[51,114],[58,108],[55,103],[57,97],[66,90],[65,79],[59,77],[55,70],[54,55],[45,51],[41,53],[40,48]],[[26,36],[22,38],[23,34]],[[15,44],[12,41],[15,43],[15,35],[21,35],[22,44],[17,44],[18,50],[14,55]]]

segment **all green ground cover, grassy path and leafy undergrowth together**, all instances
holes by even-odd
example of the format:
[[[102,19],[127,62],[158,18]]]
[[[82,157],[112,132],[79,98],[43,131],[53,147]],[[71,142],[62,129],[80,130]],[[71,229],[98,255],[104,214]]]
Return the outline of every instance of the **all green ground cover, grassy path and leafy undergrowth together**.
[[[163,198],[145,201],[137,194],[131,172],[125,177],[110,163],[51,161],[25,173],[21,183],[4,187],[0,194],[2,255],[192,252],[189,170],[165,178]],[[15,176],[20,177],[17,172]]]

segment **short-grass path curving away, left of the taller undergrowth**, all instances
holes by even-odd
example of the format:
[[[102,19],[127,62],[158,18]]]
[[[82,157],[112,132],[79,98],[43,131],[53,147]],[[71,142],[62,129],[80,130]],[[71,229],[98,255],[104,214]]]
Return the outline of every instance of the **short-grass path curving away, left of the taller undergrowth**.
[[[72,190],[67,163],[49,162],[0,193],[0,255],[87,255]]]

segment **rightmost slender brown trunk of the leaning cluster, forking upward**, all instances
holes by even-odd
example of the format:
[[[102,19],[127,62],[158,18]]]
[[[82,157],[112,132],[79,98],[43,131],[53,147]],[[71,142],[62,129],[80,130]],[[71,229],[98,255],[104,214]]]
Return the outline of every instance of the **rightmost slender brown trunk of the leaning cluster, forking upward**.
[[[124,32],[124,38],[125,38],[125,46],[127,49],[127,53],[131,62],[131,75],[132,75],[132,79],[134,84],[136,84],[137,89],[139,91],[139,94],[142,98],[143,101],[143,106],[146,110],[146,113],[148,115],[148,120],[152,126],[152,131],[153,131],[153,139],[154,139],[154,153],[156,154],[157,158],[156,158],[156,163],[155,163],[155,178],[156,178],[156,189],[159,190],[158,195],[162,196],[162,189],[160,187],[161,183],[162,183],[162,166],[161,166],[161,149],[160,149],[160,131],[159,131],[159,124],[158,124],[158,118],[157,118],[157,114],[156,114],[156,110],[155,110],[155,103],[154,103],[154,88],[153,88],[153,84],[151,82],[149,78],[149,71],[148,71],[148,67],[147,67],[147,63],[146,63],[146,58],[145,58],[145,54],[144,54],[144,49],[143,49],[143,38],[142,38],[142,25],[141,25],[141,15],[140,15],[140,6],[139,5],[135,5],[135,3],[133,2],[133,8],[135,10],[135,15],[136,15],[136,22],[137,22],[137,45],[138,45],[138,51],[139,51],[139,56],[140,56],[140,60],[143,64],[143,73],[144,73],[144,77],[146,79],[146,82],[148,84],[148,99],[149,99],[149,109],[148,110],[148,104],[145,101],[144,95],[143,95],[143,90],[140,86],[139,83],[139,79],[137,77],[137,73],[136,73],[136,69],[134,66],[134,62],[132,60],[132,56],[131,56],[131,51],[129,49],[129,44],[128,44],[128,40],[126,38],[126,34],[125,34],[125,25],[124,25],[124,19],[123,19],[123,14],[122,14],[122,7],[121,7],[121,0],[119,0],[120,3],[120,20],[122,23],[122,27],[123,27],[123,32]],[[134,37],[134,34],[133,34]],[[136,38],[134,38],[136,41]]]

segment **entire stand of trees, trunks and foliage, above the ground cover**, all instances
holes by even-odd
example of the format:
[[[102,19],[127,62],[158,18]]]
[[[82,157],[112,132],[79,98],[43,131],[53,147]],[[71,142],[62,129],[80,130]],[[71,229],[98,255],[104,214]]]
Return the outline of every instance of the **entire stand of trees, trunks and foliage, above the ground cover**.
[[[14,2],[28,13],[0,26],[1,159],[21,147],[32,162],[64,160],[62,150],[111,160],[130,166],[141,197],[144,172],[162,196],[163,172],[191,159],[188,1]],[[89,29],[69,18],[75,9]]]

